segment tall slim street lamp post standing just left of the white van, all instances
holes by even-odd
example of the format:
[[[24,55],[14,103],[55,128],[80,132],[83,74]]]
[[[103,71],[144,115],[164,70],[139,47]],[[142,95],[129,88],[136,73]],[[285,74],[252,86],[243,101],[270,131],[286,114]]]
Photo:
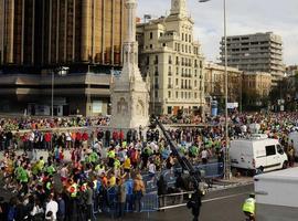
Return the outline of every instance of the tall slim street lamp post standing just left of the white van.
[[[199,0],[207,2],[211,0]],[[228,113],[227,113],[227,43],[226,43],[226,0],[223,0],[224,11],[224,75],[225,75],[225,151],[224,151],[224,178],[230,179],[230,155],[228,155]]]

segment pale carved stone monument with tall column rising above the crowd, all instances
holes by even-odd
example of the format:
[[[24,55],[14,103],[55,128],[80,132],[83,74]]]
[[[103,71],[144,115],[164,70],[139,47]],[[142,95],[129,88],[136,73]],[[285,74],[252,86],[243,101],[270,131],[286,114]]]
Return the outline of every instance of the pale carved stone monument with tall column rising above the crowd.
[[[150,85],[141,77],[138,67],[136,41],[137,0],[126,0],[127,35],[124,42],[124,66],[118,77],[111,77],[111,122],[115,128],[146,127],[149,123]]]

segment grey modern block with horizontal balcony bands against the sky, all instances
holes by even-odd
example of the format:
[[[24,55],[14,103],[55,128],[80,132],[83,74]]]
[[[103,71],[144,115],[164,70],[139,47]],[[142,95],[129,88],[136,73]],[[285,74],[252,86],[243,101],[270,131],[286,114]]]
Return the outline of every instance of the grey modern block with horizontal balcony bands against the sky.
[[[245,72],[266,72],[274,84],[285,73],[281,36],[273,32],[227,36],[227,64]],[[221,42],[221,60],[224,56],[224,38]]]

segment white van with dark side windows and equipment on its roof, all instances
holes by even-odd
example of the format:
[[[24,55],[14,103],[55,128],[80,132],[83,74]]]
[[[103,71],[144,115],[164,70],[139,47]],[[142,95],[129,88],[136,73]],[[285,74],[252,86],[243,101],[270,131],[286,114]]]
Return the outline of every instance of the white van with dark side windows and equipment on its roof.
[[[287,168],[288,157],[277,139],[254,135],[248,139],[231,141],[231,166],[253,172]]]

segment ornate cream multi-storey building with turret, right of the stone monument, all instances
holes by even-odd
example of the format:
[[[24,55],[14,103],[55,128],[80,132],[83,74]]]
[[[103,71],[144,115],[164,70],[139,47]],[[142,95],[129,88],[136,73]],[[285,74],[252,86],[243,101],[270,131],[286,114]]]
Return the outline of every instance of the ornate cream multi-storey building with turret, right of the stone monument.
[[[168,17],[137,25],[139,65],[150,76],[150,112],[155,114],[203,110],[204,59],[185,3],[172,0]]]

